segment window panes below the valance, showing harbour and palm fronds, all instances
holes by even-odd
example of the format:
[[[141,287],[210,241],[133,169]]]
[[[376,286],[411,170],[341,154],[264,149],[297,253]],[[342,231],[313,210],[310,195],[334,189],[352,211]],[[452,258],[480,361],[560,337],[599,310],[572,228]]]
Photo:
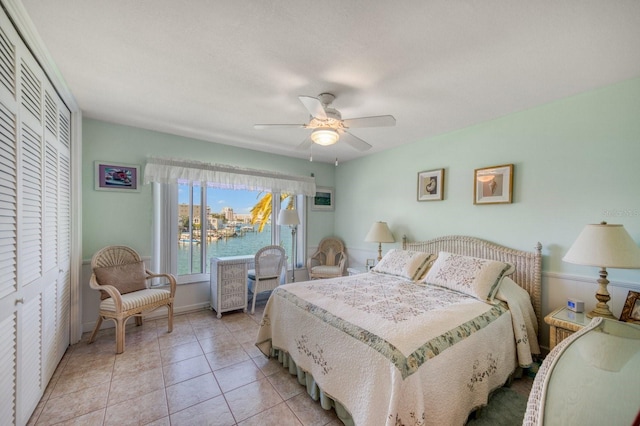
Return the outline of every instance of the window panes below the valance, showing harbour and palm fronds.
[[[270,244],[282,245],[291,262],[291,228],[274,224],[281,208],[304,206],[303,195],[219,189],[188,181],[179,181],[173,187],[175,196],[166,197],[166,201],[158,205],[173,212],[175,220],[169,219],[175,224],[170,232],[173,238],[167,241],[158,235],[155,240],[175,247],[174,254],[169,254],[175,260],[168,263],[173,265],[170,272],[177,276],[179,283],[208,280],[212,257],[254,255],[260,247]],[[166,203],[174,205],[167,209]],[[304,223],[304,212],[298,212]],[[263,215],[266,215],[264,220]],[[156,228],[156,232],[162,230]],[[303,235],[301,224],[296,232],[297,267],[304,263],[300,259],[305,258]]]

